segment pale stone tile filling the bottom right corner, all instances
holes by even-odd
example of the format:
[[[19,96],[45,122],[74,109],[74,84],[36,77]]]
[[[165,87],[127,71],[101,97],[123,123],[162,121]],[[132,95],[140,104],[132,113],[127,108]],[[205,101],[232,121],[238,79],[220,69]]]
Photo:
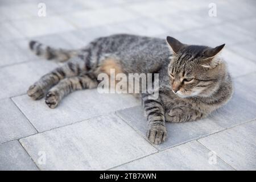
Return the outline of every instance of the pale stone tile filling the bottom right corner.
[[[221,131],[199,140],[237,170],[256,169],[256,121]]]

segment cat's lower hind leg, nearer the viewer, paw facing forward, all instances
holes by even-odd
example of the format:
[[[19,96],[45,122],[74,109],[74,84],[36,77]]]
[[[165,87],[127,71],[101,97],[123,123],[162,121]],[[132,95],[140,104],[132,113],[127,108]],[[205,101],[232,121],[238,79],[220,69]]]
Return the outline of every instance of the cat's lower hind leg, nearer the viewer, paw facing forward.
[[[47,92],[46,104],[50,108],[55,108],[61,99],[64,96],[67,96],[67,94],[75,90],[96,88],[97,85],[97,77],[93,74],[64,78],[57,85],[53,86],[49,92]]]

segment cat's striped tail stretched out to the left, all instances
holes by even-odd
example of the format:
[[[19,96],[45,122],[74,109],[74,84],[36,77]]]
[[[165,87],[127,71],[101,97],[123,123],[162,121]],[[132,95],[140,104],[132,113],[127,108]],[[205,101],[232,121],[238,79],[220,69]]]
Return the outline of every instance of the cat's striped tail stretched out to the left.
[[[42,56],[47,60],[54,59],[56,61],[63,62],[77,55],[77,51],[52,48],[34,40],[30,41],[29,47],[36,55]]]

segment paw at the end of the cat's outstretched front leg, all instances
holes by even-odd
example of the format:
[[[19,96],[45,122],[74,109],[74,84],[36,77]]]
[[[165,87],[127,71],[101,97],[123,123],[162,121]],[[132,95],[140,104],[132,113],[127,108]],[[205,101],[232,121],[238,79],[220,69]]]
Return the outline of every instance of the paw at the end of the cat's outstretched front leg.
[[[166,140],[167,130],[163,125],[151,126],[147,131],[147,138],[151,143],[160,144]]]

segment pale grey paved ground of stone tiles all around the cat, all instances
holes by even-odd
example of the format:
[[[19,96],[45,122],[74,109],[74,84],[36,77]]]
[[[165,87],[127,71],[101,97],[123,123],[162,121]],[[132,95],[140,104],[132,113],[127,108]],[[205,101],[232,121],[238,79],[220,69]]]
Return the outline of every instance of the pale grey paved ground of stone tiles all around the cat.
[[[39,2],[46,3],[46,17],[38,16]],[[216,17],[208,15],[212,2]],[[0,169],[256,169],[255,1],[0,3]],[[124,32],[226,43],[222,56],[234,97],[207,119],[167,123],[168,140],[154,146],[144,137],[146,121],[132,96],[84,90],[56,109],[26,96],[29,85],[57,66],[32,55],[28,40],[79,48]]]

